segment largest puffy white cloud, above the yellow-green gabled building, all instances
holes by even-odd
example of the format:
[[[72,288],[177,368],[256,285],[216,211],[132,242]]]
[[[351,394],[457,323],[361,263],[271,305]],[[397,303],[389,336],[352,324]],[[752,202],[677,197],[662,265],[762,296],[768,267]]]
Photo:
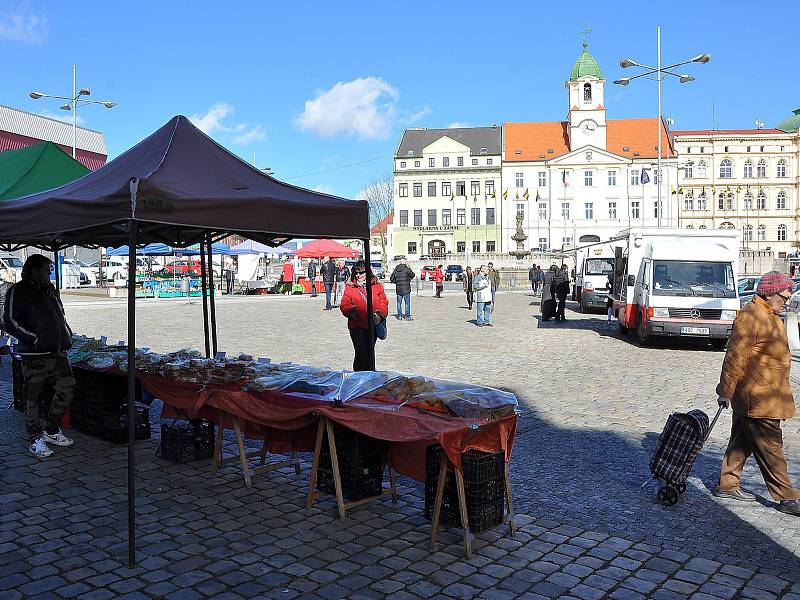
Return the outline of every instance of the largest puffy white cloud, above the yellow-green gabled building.
[[[355,135],[385,139],[391,135],[400,93],[381,77],[340,81],[307,100],[296,124],[323,138]]]

